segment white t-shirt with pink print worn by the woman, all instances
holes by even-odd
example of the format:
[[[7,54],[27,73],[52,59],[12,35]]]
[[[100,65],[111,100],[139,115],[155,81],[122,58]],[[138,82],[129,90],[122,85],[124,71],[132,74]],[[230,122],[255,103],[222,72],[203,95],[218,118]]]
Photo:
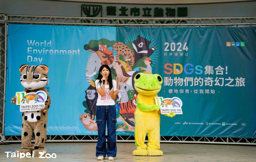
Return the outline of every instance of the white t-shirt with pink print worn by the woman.
[[[99,82],[100,82],[100,80],[98,80],[98,79],[95,80],[96,89],[102,88],[103,83],[101,83],[101,85],[100,85],[100,84],[98,84]],[[112,80],[112,83],[113,83],[113,88],[111,90],[116,91],[116,81]],[[100,93],[98,93],[98,99],[97,99],[96,105],[98,105],[98,106],[115,105],[115,101],[109,95],[109,91],[110,91],[109,85],[105,85],[105,95],[101,96]]]

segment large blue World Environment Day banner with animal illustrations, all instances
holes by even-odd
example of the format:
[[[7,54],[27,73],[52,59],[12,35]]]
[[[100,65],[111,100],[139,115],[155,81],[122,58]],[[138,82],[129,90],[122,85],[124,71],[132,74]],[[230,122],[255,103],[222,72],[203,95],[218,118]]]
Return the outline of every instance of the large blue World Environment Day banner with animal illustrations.
[[[48,135],[97,135],[94,81],[102,64],[118,83],[118,135],[134,134],[138,72],[163,78],[158,96],[183,114],[161,116],[161,135],[255,138],[256,27],[8,26],[5,135],[21,134],[9,101],[22,64],[49,67]]]

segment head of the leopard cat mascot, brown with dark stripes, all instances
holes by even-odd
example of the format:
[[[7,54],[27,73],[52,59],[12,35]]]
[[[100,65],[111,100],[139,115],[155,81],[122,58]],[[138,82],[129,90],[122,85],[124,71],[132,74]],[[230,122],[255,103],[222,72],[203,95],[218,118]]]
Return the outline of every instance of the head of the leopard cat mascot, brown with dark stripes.
[[[48,82],[48,67],[46,65],[21,65],[21,85],[29,90],[35,90],[45,87]]]

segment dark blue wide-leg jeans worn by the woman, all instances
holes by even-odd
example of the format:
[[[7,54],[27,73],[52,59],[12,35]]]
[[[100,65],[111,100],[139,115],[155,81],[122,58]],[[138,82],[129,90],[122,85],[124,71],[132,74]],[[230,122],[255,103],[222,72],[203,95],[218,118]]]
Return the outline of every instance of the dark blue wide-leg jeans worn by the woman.
[[[98,142],[96,157],[116,157],[116,108],[115,105],[97,106],[96,123],[98,126]],[[107,124],[107,146],[106,146]]]

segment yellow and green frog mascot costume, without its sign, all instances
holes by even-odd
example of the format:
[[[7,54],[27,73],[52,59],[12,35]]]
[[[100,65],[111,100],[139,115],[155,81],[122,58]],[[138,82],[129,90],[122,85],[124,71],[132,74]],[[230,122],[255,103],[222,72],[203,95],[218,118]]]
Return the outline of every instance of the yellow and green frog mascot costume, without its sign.
[[[155,97],[161,90],[163,79],[158,74],[138,73],[134,77],[134,88],[138,92],[135,111],[135,144],[133,156],[161,156],[160,151],[160,106],[155,104]],[[172,112],[168,117],[173,117]],[[148,135],[148,147],[145,144]]]

